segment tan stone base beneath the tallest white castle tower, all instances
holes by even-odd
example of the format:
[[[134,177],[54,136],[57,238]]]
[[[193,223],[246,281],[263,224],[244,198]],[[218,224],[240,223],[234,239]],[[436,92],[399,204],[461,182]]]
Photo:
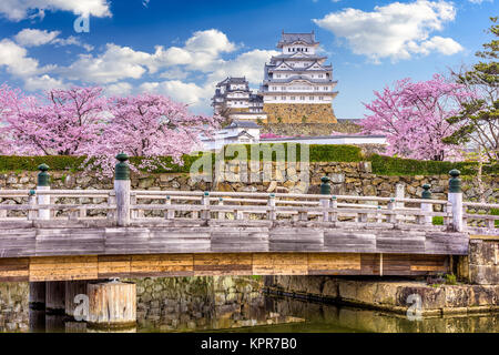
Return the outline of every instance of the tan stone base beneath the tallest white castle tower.
[[[265,103],[269,123],[336,123],[330,104]],[[281,119],[281,120],[279,120]]]

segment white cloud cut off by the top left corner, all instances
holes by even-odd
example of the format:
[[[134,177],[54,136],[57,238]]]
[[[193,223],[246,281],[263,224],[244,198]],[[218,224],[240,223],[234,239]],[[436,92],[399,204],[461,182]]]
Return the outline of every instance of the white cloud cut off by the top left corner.
[[[20,21],[38,11],[43,17],[45,10],[70,11],[78,16],[110,17],[106,0],[2,0],[0,13],[11,21]]]

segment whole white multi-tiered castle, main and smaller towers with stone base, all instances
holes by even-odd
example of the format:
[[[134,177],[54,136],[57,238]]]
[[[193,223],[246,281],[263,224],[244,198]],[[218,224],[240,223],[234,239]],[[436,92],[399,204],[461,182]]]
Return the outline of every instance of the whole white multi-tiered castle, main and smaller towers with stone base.
[[[265,64],[257,93],[246,78],[228,77],[216,85],[215,113],[269,123],[336,123],[332,104],[337,81],[327,57],[317,53],[315,33],[283,32],[277,48],[282,53]]]

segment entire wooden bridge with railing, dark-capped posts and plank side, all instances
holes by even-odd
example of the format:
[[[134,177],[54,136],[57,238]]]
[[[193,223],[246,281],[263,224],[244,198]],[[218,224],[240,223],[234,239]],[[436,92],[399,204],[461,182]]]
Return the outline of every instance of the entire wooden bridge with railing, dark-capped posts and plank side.
[[[131,191],[126,159],[114,190],[0,190],[0,281],[193,275],[427,275],[495,234],[496,204],[322,194]],[[471,213],[480,211],[480,213]],[[434,225],[441,217],[442,225]]]

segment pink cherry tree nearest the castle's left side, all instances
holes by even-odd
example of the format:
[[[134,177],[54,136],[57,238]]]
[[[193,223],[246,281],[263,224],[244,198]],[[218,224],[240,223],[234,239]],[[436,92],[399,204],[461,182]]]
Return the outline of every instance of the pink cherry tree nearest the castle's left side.
[[[200,135],[211,136],[221,116],[196,115],[189,106],[157,94],[112,98],[110,119],[95,144],[85,150],[88,162],[111,173],[116,152],[143,158],[136,169],[167,168],[162,158],[183,164],[182,156],[201,148]],[[92,163],[91,163],[92,164]]]

